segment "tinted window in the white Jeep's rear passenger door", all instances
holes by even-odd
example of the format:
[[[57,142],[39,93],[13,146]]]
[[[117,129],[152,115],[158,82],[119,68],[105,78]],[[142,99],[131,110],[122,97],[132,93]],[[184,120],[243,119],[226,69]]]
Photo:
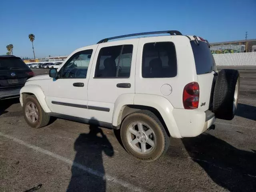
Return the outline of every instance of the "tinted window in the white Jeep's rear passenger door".
[[[100,49],[94,78],[129,78],[133,45]]]

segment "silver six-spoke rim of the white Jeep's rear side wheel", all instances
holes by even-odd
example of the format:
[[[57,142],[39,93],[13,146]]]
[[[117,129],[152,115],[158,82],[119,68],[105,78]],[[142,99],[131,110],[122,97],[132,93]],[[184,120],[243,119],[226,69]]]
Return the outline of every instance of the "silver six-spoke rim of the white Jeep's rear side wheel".
[[[156,135],[144,122],[132,122],[128,126],[126,137],[132,149],[140,154],[148,154],[156,146]]]

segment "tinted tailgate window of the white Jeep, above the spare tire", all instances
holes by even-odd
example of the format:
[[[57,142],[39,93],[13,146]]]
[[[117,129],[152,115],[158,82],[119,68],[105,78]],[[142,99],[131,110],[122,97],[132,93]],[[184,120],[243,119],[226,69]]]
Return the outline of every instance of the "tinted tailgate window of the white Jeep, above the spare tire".
[[[196,64],[196,74],[211,73],[215,70],[215,61],[206,42],[199,41],[199,45],[194,41],[190,41],[194,60]]]

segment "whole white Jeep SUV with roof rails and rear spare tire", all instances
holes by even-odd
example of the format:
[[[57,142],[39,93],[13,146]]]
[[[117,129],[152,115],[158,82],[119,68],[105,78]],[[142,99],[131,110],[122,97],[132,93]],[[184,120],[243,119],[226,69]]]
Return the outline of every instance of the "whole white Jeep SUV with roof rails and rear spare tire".
[[[108,42],[164,33],[170,35]],[[35,128],[54,116],[120,129],[128,153],[156,160],[170,137],[195,137],[215,118],[234,117],[239,73],[217,72],[209,47],[198,36],[160,31],[79,48],[58,70],[27,80],[24,118]]]

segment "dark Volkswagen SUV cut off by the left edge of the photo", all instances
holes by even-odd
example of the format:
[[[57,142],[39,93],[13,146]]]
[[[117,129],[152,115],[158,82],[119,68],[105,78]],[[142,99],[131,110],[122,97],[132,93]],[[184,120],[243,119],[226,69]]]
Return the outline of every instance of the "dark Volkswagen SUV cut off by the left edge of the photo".
[[[0,99],[20,96],[20,89],[34,72],[12,55],[0,55]]]

